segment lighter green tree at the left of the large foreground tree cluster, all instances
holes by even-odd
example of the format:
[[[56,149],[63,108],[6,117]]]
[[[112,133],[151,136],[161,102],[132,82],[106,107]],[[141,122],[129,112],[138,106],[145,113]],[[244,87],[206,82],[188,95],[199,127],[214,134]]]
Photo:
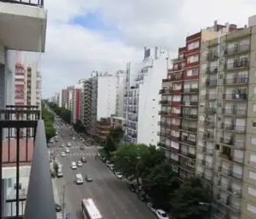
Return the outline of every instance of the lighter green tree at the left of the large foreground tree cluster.
[[[139,184],[138,162],[147,150],[148,146],[146,145],[124,144],[113,152],[112,160],[124,177],[129,180],[137,180]]]

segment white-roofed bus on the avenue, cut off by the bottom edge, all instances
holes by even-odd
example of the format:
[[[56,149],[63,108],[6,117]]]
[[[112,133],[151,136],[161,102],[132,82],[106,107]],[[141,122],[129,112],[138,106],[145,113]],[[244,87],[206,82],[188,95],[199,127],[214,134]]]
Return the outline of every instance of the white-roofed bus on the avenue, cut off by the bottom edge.
[[[81,204],[84,219],[102,219],[102,215],[92,199],[83,199]]]

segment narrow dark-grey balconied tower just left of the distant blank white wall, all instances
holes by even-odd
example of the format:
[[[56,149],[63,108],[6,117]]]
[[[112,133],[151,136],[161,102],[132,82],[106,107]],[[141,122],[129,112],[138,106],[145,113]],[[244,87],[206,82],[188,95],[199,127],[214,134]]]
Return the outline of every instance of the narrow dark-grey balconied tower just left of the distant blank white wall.
[[[86,130],[89,130],[91,126],[91,78],[83,82],[83,125]]]

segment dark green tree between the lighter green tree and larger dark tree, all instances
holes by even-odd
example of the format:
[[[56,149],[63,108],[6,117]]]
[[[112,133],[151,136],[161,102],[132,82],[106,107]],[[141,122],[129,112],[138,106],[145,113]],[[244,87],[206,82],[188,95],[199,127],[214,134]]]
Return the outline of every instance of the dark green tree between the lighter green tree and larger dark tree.
[[[150,174],[156,166],[165,162],[165,153],[162,150],[157,150],[153,145],[148,146],[148,150],[141,154],[138,163],[138,172],[140,177],[146,177]]]

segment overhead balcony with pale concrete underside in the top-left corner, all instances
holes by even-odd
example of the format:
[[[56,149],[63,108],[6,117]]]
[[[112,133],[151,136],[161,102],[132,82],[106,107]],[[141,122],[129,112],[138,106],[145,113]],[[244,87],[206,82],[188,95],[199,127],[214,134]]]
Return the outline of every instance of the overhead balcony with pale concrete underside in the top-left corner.
[[[47,12],[43,0],[1,0],[0,41],[8,50],[45,52]]]

